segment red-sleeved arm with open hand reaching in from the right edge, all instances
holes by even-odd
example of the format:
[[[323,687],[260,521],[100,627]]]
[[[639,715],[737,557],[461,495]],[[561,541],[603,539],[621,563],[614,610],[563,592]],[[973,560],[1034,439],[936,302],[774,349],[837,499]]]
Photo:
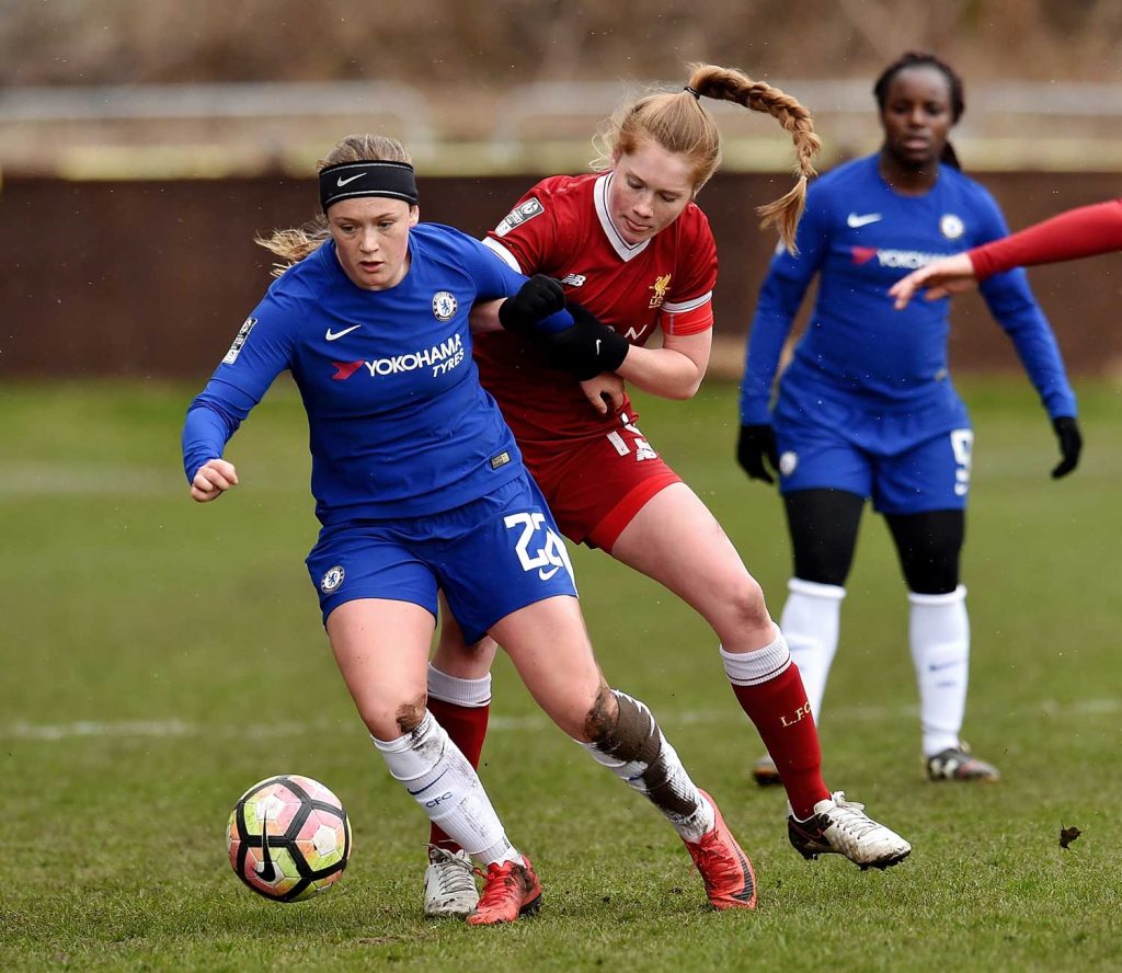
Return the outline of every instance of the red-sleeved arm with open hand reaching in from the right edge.
[[[889,294],[895,297],[900,311],[920,287],[927,288],[928,301],[937,301],[1013,267],[1075,260],[1113,250],[1122,250],[1122,199],[1068,210],[992,244],[932,260],[893,284]]]

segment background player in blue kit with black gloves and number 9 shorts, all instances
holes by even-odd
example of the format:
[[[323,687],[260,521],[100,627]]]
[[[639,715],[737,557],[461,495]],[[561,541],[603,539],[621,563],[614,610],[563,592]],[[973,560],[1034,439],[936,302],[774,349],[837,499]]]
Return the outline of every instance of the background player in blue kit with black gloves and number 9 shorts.
[[[884,514],[909,588],[922,749],[932,780],[996,780],[959,737],[969,623],[959,584],[974,434],[947,371],[948,302],[894,311],[888,288],[908,270],[1008,233],[991,195],[962,174],[947,141],[965,103],[959,77],[907,54],[877,80],[884,143],[811,186],[799,255],[780,253],[760,294],[741,385],[737,459],[780,476],[794,577],[780,625],[821,712],[838,643],[845,581],[865,499]],[[780,382],[780,352],[811,278],[819,292]],[[982,293],[1008,332],[1059,438],[1054,476],[1075,468],[1075,396],[1023,270]],[[769,759],[761,783],[774,780]]]

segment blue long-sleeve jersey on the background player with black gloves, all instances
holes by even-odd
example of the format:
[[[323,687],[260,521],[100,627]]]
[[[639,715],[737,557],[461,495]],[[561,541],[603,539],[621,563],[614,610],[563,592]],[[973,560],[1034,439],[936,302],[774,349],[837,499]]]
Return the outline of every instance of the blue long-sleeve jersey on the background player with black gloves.
[[[946,396],[949,301],[912,301],[895,311],[888,290],[917,267],[1008,232],[990,193],[951,166],[940,166],[935,186],[920,196],[894,192],[875,155],[822,176],[807,196],[799,256],[776,254],[761,290],[741,384],[742,422],[769,422],[780,352],[816,274],[818,297],[784,387],[881,410]],[[1075,395],[1024,272],[992,277],[982,294],[1049,415],[1074,416]]]

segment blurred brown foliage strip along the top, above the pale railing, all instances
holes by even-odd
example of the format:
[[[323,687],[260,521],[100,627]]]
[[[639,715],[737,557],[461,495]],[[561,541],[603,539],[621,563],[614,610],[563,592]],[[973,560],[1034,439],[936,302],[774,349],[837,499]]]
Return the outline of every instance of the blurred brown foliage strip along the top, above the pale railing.
[[[974,80],[1118,81],[1118,0],[0,0],[0,83],[393,80],[465,86],[872,76],[937,49]]]

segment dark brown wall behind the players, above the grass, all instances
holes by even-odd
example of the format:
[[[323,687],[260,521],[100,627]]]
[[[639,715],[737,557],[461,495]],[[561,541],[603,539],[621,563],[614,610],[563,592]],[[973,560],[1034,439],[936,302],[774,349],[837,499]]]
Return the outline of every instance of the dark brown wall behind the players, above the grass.
[[[422,218],[480,235],[533,176],[425,178]],[[1019,228],[1060,209],[1118,196],[1116,174],[1017,173],[983,180]],[[774,237],[752,206],[788,176],[717,176],[700,202],[720,250],[718,333],[743,337]],[[0,194],[0,375],[184,376],[202,379],[268,286],[258,232],[314,212],[310,180],[74,183],[9,180]],[[1032,272],[1073,373],[1122,361],[1118,256]],[[974,297],[955,312],[956,367],[1017,368],[1003,332]]]

